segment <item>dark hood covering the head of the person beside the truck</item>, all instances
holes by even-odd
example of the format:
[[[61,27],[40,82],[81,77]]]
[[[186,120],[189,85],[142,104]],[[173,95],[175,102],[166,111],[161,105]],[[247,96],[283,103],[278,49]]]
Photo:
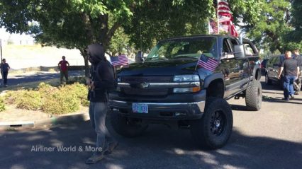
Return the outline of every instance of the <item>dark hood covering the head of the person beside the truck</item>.
[[[104,47],[99,43],[88,45],[86,52],[89,54],[89,62],[91,64],[96,64],[106,59]]]

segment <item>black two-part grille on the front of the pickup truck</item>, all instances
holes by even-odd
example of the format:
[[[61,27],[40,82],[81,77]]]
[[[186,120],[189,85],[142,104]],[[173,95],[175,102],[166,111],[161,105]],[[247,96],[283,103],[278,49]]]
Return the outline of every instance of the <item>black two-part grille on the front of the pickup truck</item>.
[[[169,83],[173,76],[123,76],[123,83]],[[169,88],[123,88],[126,95],[167,95]]]

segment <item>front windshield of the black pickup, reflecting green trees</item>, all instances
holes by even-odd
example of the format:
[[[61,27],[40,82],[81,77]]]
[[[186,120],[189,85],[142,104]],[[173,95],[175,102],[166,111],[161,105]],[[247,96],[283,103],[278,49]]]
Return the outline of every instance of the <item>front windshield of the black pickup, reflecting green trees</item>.
[[[188,37],[159,42],[146,60],[198,59],[201,54],[218,58],[217,37]]]

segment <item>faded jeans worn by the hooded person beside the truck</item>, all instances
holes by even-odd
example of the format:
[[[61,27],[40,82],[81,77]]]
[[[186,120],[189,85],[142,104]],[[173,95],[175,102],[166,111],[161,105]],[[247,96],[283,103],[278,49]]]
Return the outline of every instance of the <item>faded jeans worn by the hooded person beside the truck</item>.
[[[116,141],[105,125],[106,115],[108,112],[108,103],[90,102],[89,117],[91,126],[96,132],[96,148],[106,148],[107,143]]]

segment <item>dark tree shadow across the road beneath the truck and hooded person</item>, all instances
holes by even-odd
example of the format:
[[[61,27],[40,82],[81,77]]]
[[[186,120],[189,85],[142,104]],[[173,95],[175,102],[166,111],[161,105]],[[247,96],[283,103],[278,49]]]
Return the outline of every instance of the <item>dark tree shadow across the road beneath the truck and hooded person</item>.
[[[140,137],[127,139],[113,133],[120,145],[94,165],[84,161],[95,134],[89,122],[44,130],[9,131],[0,134],[0,168],[301,168],[301,143],[265,136],[247,136],[233,130],[228,144],[215,151],[202,151],[189,130],[152,125]],[[75,147],[57,151],[56,146]],[[33,148],[55,148],[35,152]]]

